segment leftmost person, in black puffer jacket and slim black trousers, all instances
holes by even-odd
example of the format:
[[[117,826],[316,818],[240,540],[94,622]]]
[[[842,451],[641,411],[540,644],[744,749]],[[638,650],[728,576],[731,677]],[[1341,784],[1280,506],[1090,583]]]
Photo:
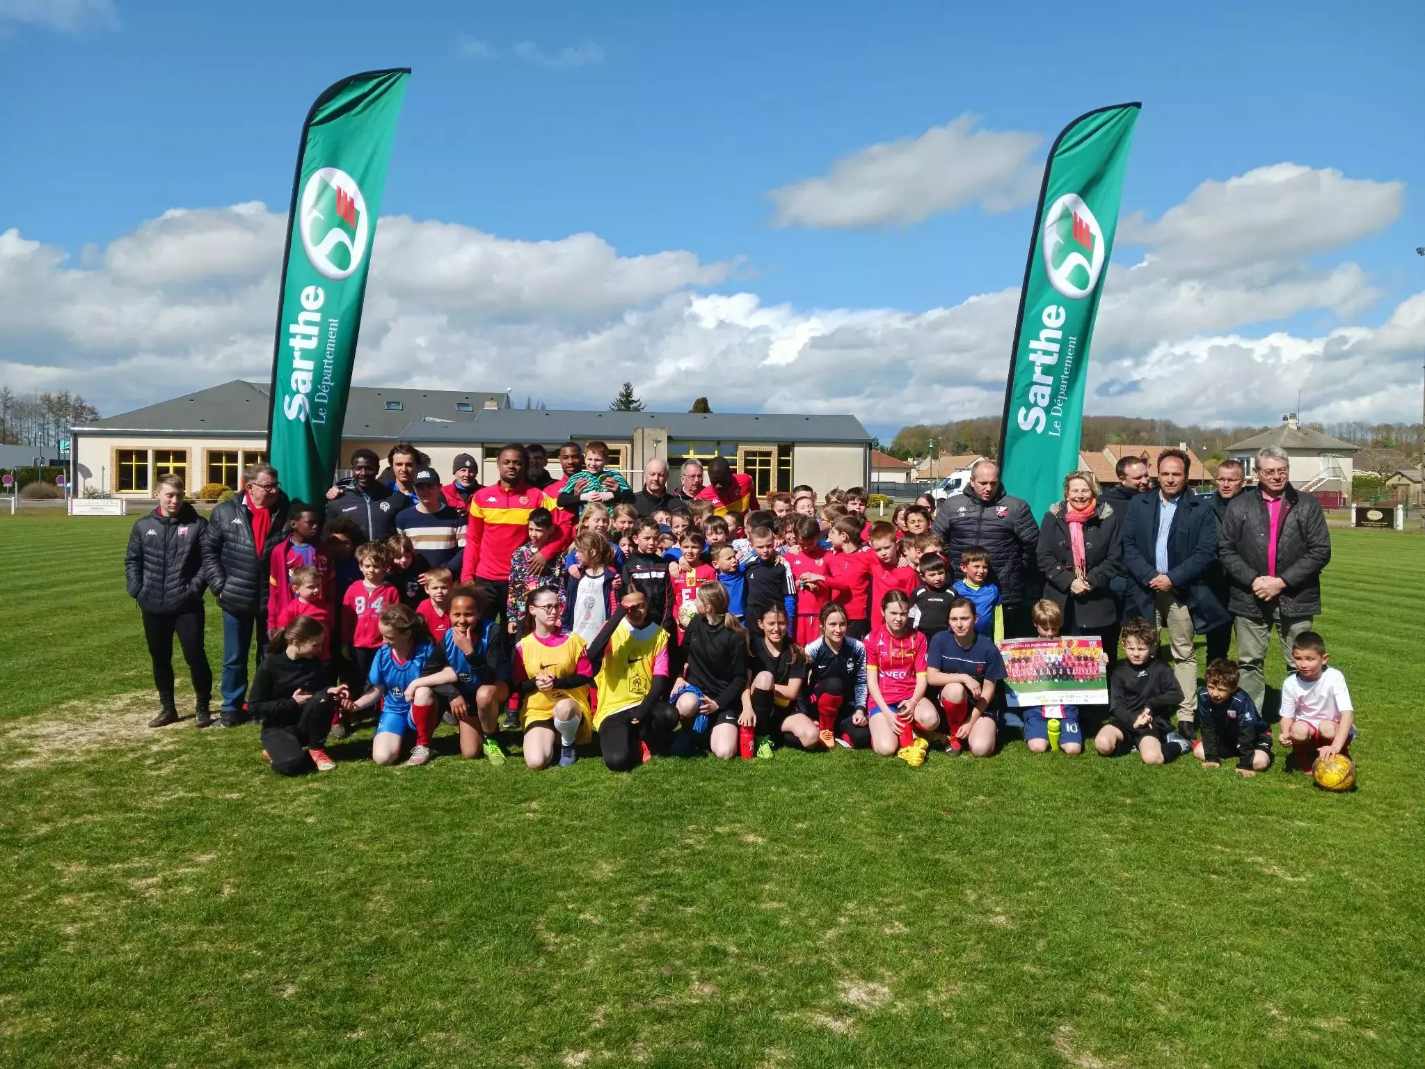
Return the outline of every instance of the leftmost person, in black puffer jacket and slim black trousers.
[[[208,523],[182,499],[182,476],[158,480],[158,507],[134,523],[124,554],[124,584],[138,601],[144,619],[144,640],[154,663],[158,716],[148,727],[178,721],[174,703],[174,636],[192,677],[198,727],[208,727],[212,714],[212,667],[202,647],[202,534]]]

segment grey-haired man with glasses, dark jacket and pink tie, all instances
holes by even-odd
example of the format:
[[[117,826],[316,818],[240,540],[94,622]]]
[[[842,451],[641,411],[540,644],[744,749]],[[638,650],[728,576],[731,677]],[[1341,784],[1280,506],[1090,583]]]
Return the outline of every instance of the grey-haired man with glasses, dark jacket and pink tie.
[[[1331,532],[1321,505],[1288,482],[1291,465],[1275,446],[1257,453],[1257,486],[1227,505],[1218,557],[1237,617],[1241,688],[1263,707],[1263,663],[1277,629],[1287,671],[1295,671],[1291,643],[1311,630],[1321,611],[1321,572],[1331,560]]]

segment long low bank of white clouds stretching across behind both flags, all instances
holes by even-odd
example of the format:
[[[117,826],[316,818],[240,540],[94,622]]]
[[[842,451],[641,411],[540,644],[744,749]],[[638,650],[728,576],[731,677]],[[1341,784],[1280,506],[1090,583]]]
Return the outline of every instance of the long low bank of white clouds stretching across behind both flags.
[[[1372,185],[1345,188],[1374,197]],[[74,389],[114,413],[266,378],[284,234],[284,217],[259,204],[175,210],[76,264],[0,232],[0,381]],[[1314,418],[1416,418],[1425,294],[1362,326],[1381,294],[1355,264],[1315,268],[1288,244],[1261,262],[1204,268],[1171,227],[1140,237],[1154,242],[1149,254],[1106,282],[1090,412],[1260,422],[1290,410],[1300,388]],[[1324,238],[1314,248],[1331,251]],[[356,381],[516,385],[551,405],[603,406],[630,379],[653,406],[708,395],[718,410],[854,412],[878,425],[999,412],[1017,288],[921,314],[708,292],[734,269],[688,251],[620,255],[593,234],[510,241],[388,217]],[[1327,325],[1280,329],[1302,312]]]

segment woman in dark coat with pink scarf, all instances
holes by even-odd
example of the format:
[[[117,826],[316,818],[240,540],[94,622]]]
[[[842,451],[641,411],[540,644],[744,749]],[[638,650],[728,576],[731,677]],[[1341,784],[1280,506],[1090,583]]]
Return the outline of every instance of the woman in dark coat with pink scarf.
[[[1097,636],[1109,664],[1119,657],[1119,610],[1109,583],[1123,573],[1123,517],[1099,500],[1087,472],[1064,477],[1064,499],[1039,527],[1039,570],[1045,597],[1064,614],[1064,634]]]

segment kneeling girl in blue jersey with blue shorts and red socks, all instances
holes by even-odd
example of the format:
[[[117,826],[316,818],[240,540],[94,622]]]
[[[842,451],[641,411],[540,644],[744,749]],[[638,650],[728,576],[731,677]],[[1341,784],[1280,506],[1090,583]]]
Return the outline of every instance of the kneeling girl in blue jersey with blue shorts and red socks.
[[[393,604],[380,610],[380,637],[366,678],[370,688],[352,703],[352,708],[380,703],[376,737],[370,741],[370,758],[376,764],[395,764],[408,735],[415,735],[415,745],[406,764],[426,764],[430,740],[440,723],[435,688],[455,683],[456,671],[446,661],[445,650],[430,640],[426,621],[410,606]]]

